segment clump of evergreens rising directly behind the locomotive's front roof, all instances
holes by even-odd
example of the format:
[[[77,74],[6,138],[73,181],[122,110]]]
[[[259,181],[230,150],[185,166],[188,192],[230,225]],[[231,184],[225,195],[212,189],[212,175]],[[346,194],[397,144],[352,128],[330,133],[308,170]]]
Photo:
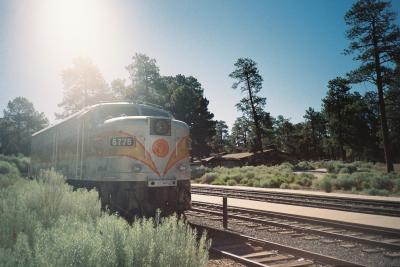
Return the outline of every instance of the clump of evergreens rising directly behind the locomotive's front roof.
[[[115,98],[162,106],[189,125],[192,155],[208,155],[215,122],[199,81],[192,76],[161,76],[156,60],[140,53],[132,57],[132,63],[126,69],[130,84],[126,85],[121,79],[114,80],[111,87]]]

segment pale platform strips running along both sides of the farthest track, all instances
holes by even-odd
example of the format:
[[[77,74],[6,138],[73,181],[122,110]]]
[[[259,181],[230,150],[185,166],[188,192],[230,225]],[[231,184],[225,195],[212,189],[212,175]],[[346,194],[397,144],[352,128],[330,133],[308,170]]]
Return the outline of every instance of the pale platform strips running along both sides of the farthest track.
[[[196,184],[197,185],[197,184]],[[208,185],[200,185],[200,186],[208,186]],[[221,187],[221,186],[219,186]],[[233,188],[228,187],[227,188]],[[240,189],[248,189],[247,187],[235,187]],[[264,189],[264,188],[251,188],[252,190],[281,190],[286,193],[289,191],[295,191],[297,194],[310,194],[309,191],[298,191],[298,190],[283,190],[283,189]],[[340,197],[349,197],[349,198],[369,198],[369,199],[384,199],[389,201],[400,201],[400,198],[382,198],[375,196],[360,196],[360,195],[347,195],[347,194],[338,194],[338,193],[324,193],[324,192],[312,192],[313,194],[319,195],[332,195]],[[192,201],[199,201],[205,203],[212,204],[222,204],[222,197],[219,196],[207,196],[207,195],[197,195],[192,194]],[[296,206],[296,205],[287,205],[287,204],[278,204],[278,203],[270,203],[270,202],[262,202],[255,200],[247,200],[247,199],[238,199],[238,198],[228,198],[228,206],[231,207],[239,207],[239,208],[250,208],[254,210],[263,210],[263,211],[271,211],[278,213],[286,213],[291,215],[300,215],[307,217],[320,218],[325,220],[333,220],[338,222],[348,222],[348,223],[356,223],[362,224],[366,226],[376,226],[376,227],[385,227],[400,230],[400,217],[393,216],[383,216],[383,215],[375,215],[375,214],[364,214],[357,212],[348,212],[348,211],[340,211],[340,210],[332,210],[332,209],[324,209],[324,208],[314,208],[314,207],[304,207],[304,206]]]

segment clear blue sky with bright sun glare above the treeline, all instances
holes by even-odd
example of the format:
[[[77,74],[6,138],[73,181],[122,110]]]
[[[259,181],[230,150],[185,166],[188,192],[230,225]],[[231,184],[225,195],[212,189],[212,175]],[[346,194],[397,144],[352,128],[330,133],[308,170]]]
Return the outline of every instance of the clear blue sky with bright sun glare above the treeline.
[[[258,64],[265,110],[292,122],[321,109],[328,81],[357,66],[344,55],[351,0],[0,0],[0,110],[18,96],[54,122],[61,72],[90,58],[107,82],[128,78],[135,53],[161,75],[199,80],[215,119],[231,126],[243,97],[229,73],[240,57]],[[399,13],[400,1],[392,9]],[[399,19],[398,19],[399,21]],[[373,90],[369,84],[356,87]],[[1,112],[0,112],[1,116]]]

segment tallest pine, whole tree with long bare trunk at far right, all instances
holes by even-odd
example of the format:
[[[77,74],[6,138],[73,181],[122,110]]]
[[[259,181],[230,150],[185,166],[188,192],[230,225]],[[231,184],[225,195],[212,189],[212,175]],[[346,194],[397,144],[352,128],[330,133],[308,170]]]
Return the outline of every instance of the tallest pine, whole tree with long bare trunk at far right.
[[[400,47],[400,29],[395,25],[395,13],[391,4],[379,0],[359,0],[345,15],[349,29],[348,54],[356,54],[361,66],[349,76],[355,82],[369,81],[378,91],[379,111],[387,171],[393,171],[390,137],[388,133],[384,88],[390,80],[388,74],[393,65],[393,55]]]

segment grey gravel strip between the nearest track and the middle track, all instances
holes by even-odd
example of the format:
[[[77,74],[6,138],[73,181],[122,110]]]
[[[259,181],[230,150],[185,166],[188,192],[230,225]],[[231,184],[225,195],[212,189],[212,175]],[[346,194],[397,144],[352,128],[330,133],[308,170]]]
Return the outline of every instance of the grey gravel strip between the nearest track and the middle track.
[[[187,218],[190,222],[222,229],[222,223],[220,221],[213,221],[206,218],[200,219],[191,215],[187,215]],[[245,225],[235,224],[232,221],[229,222],[229,228],[245,235],[312,251],[315,253],[320,253],[323,255],[329,255],[332,257],[367,266],[400,266],[400,257],[385,256],[384,252],[387,251],[379,251],[379,248],[376,251],[376,247],[351,244],[349,242],[340,242],[334,239],[320,238],[311,235],[292,237],[291,234],[279,233],[287,229],[281,229],[281,231],[279,232],[269,230],[256,230]],[[343,247],[342,245],[346,246]]]

